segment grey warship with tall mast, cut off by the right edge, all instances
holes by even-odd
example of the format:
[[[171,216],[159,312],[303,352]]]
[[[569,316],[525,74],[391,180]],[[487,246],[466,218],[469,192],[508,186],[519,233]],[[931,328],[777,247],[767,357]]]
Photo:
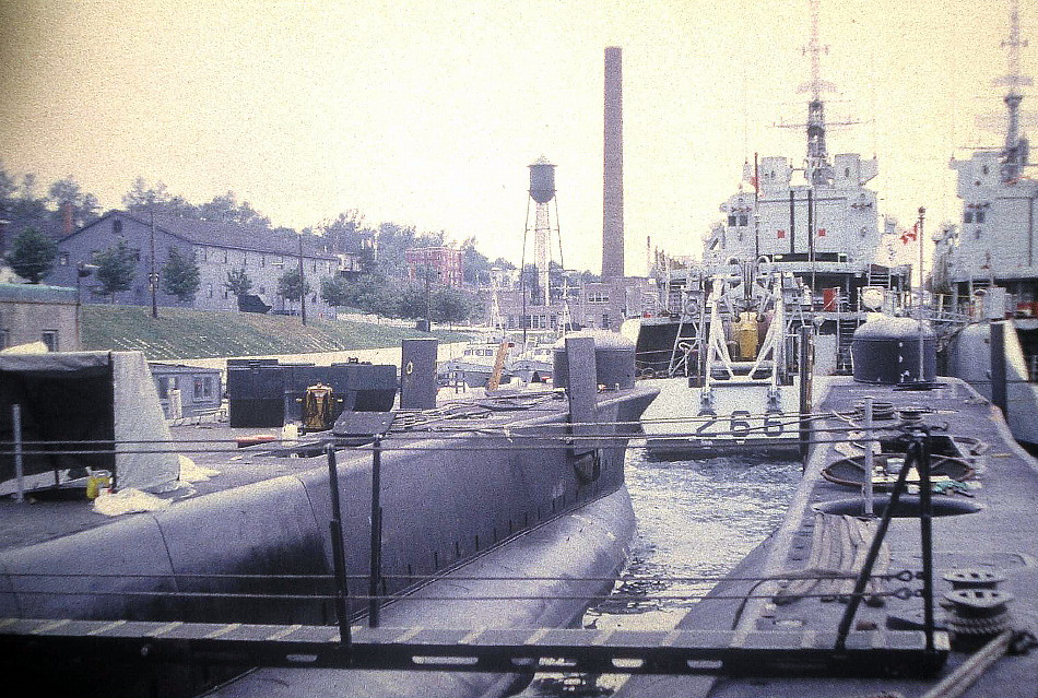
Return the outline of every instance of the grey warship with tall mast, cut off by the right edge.
[[[1023,87],[1031,84],[1021,74],[1018,8],[1011,12],[1006,86],[1005,140],[1001,146],[982,147],[967,159],[953,159],[956,193],[963,202],[959,225],[936,237],[934,286],[949,294],[951,308],[962,323],[947,340],[946,371],[963,378],[987,398],[991,388],[992,326],[1002,327],[1007,375],[1006,418],[1017,440],[1038,446],[1038,258],[1035,220],[1038,216],[1038,180],[1024,134],[1021,110]],[[965,327],[963,327],[965,324]],[[996,359],[995,363],[999,363]]]

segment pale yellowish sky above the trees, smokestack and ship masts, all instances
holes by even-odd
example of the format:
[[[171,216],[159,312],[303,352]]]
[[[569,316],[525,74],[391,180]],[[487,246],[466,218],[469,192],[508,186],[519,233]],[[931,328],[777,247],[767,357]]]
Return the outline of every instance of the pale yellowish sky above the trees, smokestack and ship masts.
[[[803,129],[777,125],[806,118],[809,31],[807,0],[0,0],[0,162],[73,175],[105,210],[141,176],[196,203],[233,190],[275,225],[358,210],[518,261],[543,154],[565,264],[597,271],[603,51],[620,46],[640,274],[647,237],[699,253],[754,153],[802,162]],[[1008,0],[823,0],[819,33],[829,121],[856,122],[829,152],[880,158],[881,214],[957,218],[948,159],[1002,138],[976,120],[1004,110]]]

